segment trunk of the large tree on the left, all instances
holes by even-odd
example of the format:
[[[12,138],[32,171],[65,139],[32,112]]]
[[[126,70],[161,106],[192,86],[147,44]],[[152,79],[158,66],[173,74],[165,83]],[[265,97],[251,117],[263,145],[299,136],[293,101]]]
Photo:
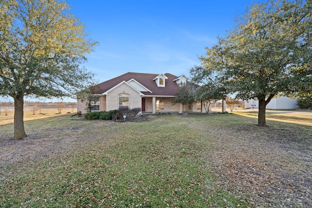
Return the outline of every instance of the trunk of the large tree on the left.
[[[14,97],[14,138],[26,137],[24,129],[24,95]]]

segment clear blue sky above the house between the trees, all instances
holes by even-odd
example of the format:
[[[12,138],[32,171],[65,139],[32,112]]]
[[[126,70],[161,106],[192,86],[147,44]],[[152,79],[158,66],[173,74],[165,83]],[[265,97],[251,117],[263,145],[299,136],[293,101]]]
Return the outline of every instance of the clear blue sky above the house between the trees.
[[[66,0],[99,46],[84,66],[99,82],[127,72],[189,76],[205,47],[253,0]]]

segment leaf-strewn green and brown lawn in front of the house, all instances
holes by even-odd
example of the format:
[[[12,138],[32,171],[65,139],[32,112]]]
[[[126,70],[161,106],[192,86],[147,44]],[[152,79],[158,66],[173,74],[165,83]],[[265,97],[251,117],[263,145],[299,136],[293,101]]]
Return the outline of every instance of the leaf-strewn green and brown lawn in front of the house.
[[[26,121],[28,137],[21,141],[10,137],[13,124],[0,126],[0,207],[312,202],[308,126],[269,120],[261,128],[243,113],[151,115],[137,122],[68,117]]]

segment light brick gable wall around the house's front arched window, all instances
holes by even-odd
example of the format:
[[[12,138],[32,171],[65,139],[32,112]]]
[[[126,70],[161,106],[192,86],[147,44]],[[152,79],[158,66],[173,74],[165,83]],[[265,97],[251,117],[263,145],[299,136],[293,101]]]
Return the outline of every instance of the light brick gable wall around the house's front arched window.
[[[141,96],[139,92],[123,83],[111,90],[106,95],[106,111],[118,109],[118,95],[128,94],[129,95],[129,109],[141,108]]]

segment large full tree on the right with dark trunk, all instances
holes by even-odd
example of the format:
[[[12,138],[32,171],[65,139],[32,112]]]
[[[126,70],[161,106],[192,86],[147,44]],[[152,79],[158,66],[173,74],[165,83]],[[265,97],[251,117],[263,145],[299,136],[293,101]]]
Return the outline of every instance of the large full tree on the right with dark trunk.
[[[237,98],[259,100],[258,126],[274,96],[311,92],[311,0],[268,0],[248,8],[226,38],[200,57]]]

